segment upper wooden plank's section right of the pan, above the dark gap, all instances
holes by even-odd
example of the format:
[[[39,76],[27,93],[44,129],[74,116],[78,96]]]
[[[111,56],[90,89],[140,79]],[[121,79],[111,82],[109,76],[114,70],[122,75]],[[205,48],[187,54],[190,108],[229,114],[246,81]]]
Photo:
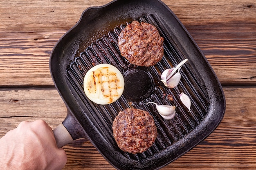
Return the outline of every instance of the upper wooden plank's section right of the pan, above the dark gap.
[[[192,35],[222,85],[256,81],[256,4],[249,0],[163,0]]]

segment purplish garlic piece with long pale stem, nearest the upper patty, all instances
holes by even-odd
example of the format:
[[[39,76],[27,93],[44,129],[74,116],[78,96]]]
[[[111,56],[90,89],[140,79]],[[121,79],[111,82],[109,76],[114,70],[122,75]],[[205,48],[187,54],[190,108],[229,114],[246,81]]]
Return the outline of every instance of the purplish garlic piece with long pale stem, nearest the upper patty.
[[[180,82],[180,67],[186,62],[188,59],[180,62],[176,67],[166,69],[161,75],[161,81],[168,88],[175,88]],[[177,73],[176,73],[177,71]]]

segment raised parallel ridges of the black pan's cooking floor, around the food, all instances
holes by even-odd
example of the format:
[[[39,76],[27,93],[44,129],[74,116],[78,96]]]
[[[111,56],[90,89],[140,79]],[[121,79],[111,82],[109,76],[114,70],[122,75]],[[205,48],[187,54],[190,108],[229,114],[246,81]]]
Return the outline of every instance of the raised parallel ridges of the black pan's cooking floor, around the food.
[[[67,67],[67,78],[75,87],[78,87],[76,92],[81,97],[81,100],[85,103],[89,102],[92,107],[93,112],[87,114],[90,114],[92,119],[94,119],[94,124],[98,125],[97,128],[101,132],[101,135],[105,136],[112,146],[117,147],[112,134],[112,122],[120,110],[125,110],[130,107],[128,103],[132,103],[132,107],[134,108],[146,110],[153,115],[155,118],[155,124],[157,124],[158,128],[158,137],[153,147],[142,154],[133,155],[123,153],[127,158],[137,160],[146,158],[147,156],[152,156],[154,153],[164,150],[177,140],[182,139],[191,132],[195,126],[200,124],[202,119],[204,119],[204,116],[207,114],[207,109],[209,107],[207,94],[203,93],[200,84],[197,83],[195,77],[193,77],[189,72],[188,66],[186,66],[189,65],[189,62],[188,64],[185,64],[180,71],[182,74],[182,80],[179,88],[169,89],[160,82],[161,79],[159,74],[161,74],[166,68],[171,68],[184,60],[184,56],[181,56],[177,51],[175,51],[173,44],[166,38],[167,35],[162,31],[163,29],[159,26],[159,23],[153,15],[149,15],[148,17],[143,16],[139,18],[139,21],[157,26],[160,35],[165,38],[163,59],[158,64],[150,68],[137,68],[146,69],[146,71],[150,73],[155,80],[154,90],[150,97],[139,101],[130,101],[130,99],[127,99],[123,95],[113,104],[98,105],[90,102],[83,92],[83,78],[85,73],[94,65],[101,63],[112,64],[123,74],[127,70],[134,68],[134,66],[129,64],[129,62],[120,55],[118,50],[117,38],[121,30],[126,26],[124,24],[115,28],[114,31],[109,32],[108,35],[104,35],[103,38],[97,40],[97,42],[92,43],[85,52],[81,53],[80,57],[77,57],[74,62]],[[189,87],[189,90],[187,87]],[[186,93],[191,98],[191,112],[188,112],[183,104],[178,102],[178,95],[182,92]],[[163,98],[164,94],[174,95],[175,101],[170,102]],[[177,106],[176,117],[170,121],[162,119],[153,105],[146,105],[147,102],[157,102],[158,104]]]

